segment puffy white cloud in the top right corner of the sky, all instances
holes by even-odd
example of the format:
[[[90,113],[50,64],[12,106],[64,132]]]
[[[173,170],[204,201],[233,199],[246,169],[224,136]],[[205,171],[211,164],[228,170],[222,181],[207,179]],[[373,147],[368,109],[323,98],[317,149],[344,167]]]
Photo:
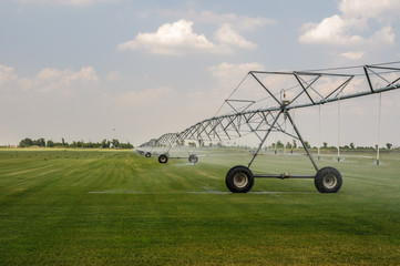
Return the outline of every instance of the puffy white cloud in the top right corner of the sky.
[[[396,35],[390,23],[392,19],[399,18],[399,1],[342,0],[339,3],[339,10],[340,14],[325,18],[319,23],[304,24],[299,42],[342,47],[394,44]],[[381,24],[381,28],[368,37],[371,20]]]

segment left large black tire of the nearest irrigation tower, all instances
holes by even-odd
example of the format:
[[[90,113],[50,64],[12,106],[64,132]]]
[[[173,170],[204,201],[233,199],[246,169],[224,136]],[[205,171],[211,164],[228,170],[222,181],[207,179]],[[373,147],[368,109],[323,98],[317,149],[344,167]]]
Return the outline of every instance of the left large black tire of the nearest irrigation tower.
[[[247,193],[254,185],[254,176],[248,167],[237,165],[226,173],[225,184],[233,193]]]

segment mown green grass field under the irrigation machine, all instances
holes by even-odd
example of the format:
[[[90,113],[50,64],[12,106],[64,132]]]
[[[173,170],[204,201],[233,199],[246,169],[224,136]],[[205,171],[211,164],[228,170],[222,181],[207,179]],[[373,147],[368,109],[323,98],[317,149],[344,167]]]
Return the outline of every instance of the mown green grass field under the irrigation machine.
[[[317,162],[343,176],[256,180],[232,194],[247,153],[160,164],[127,151],[0,151],[0,265],[400,265],[400,155]],[[302,155],[255,173],[312,174]]]

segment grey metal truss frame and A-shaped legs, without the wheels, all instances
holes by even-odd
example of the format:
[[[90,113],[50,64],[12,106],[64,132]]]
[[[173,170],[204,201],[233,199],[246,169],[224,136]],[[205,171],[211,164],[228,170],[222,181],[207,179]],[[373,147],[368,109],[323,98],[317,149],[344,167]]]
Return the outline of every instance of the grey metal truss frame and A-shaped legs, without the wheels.
[[[400,62],[396,62],[400,63]],[[389,63],[388,63],[389,64]],[[247,168],[249,168],[254,162],[254,160],[259,154],[261,146],[266,142],[270,132],[277,131],[281,132],[290,137],[294,137],[301,142],[302,147],[305,149],[308,157],[311,161],[314,168],[319,172],[319,168],[314,161],[310,152],[305,144],[304,139],[300,135],[291,115],[289,114],[290,110],[309,108],[321,105],[326,103],[332,103],[337,101],[355,99],[360,96],[367,96],[371,94],[379,94],[382,92],[388,92],[392,90],[400,89],[400,68],[390,68],[383,66],[387,64],[373,64],[373,65],[362,65],[362,74],[357,74],[357,76],[365,75],[365,79],[368,83],[368,89],[360,93],[351,93],[345,94],[345,89],[351,83],[356,74],[346,74],[346,73],[329,73],[329,72],[315,72],[315,71],[293,71],[293,72],[268,72],[268,71],[250,71],[248,75],[254,78],[255,81],[260,85],[263,90],[267,93],[268,98],[273,100],[275,103],[273,106],[265,109],[252,110],[252,105],[255,101],[248,100],[226,100],[225,103],[232,108],[233,113],[213,116],[211,119],[203,120],[181,132],[177,133],[167,133],[162,135],[158,139],[151,140],[141,145],[141,147],[146,146],[168,146],[170,149],[177,141],[185,140],[201,140],[201,141],[223,141],[223,140],[234,140],[237,137],[242,137],[246,134],[254,134],[259,140],[259,145],[257,151],[252,156],[249,163],[247,164]],[[346,68],[343,68],[346,69]],[[335,69],[338,70],[338,69]],[[340,69],[339,69],[340,70]],[[394,80],[388,80],[383,76],[383,73],[397,73],[399,76]],[[297,92],[289,100],[278,99],[273,91],[264,84],[258,78],[257,74],[274,74],[274,75],[287,75],[295,78],[297,81],[297,86],[300,86],[300,91]],[[341,83],[335,88],[331,88],[329,93],[322,95],[318,88],[317,81],[324,76],[328,78],[340,78]],[[371,76],[376,76],[382,82],[382,86],[377,88],[373,86]],[[242,83],[240,83],[242,84]],[[302,103],[297,104],[297,100],[302,98],[305,100]],[[235,109],[232,104],[234,101],[239,101],[245,103],[245,108],[242,110]],[[286,129],[278,123],[278,120],[284,115],[284,120],[288,120],[295,131],[296,134],[290,134]],[[278,178],[315,178],[316,175],[290,175],[288,173],[285,174],[255,174],[254,177],[278,177]]]

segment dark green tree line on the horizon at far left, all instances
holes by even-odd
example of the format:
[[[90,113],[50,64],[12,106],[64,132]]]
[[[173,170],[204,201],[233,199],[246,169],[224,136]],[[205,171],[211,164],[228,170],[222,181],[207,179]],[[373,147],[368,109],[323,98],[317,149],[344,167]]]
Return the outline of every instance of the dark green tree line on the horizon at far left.
[[[133,145],[127,143],[122,143],[119,140],[113,139],[112,141],[103,140],[102,142],[84,142],[84,141],[73,141],[72,143],[65,142],[64,139],[61,139],[61,142],[54,142],[52,140],[45,141],[43,137],[38,140],[31,140],[25,137],[20,141],[19,147],[88,147],[88,149],[133,149]]]

